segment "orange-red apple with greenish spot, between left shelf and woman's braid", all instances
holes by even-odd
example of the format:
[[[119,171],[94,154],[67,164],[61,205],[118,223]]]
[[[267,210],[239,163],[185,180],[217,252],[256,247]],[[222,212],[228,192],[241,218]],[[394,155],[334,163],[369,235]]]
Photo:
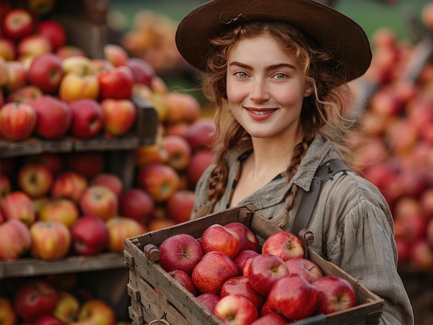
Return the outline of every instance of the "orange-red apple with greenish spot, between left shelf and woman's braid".
[[[137,184],[154,198],[156,202],[167,201],[178,190],[180,178],[172,166],[149,164],[140,168]]]

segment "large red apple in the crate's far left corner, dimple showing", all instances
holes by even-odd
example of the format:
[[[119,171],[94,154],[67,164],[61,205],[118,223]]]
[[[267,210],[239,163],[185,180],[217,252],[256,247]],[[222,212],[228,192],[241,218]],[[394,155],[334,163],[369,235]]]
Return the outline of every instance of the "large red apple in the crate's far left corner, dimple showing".
[[[187,233],[167,237],[159,247],[160,266],[166,271],[183,270],[192,275],[192,270],[203,258],[199,241]]]

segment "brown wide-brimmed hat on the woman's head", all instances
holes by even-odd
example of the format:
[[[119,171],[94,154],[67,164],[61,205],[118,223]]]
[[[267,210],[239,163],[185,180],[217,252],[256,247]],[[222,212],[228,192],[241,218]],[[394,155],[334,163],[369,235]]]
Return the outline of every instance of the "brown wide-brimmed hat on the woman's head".
[[[176,46],[192,66],[206,70],[210,41],[230,22],[283,21],[306,32],[343,65],[347,81],[366,72],[371,49],[364,30],[349,17],[314,0],[212,0],[185,15],[176,31]]]

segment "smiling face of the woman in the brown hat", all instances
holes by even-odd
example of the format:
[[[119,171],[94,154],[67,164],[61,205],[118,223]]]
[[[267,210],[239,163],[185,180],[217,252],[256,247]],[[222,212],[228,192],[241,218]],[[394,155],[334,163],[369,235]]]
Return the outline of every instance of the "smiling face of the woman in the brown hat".
[[[269,35],[241,39],[228,58],[227,97],[235,119],[252,137],[295,137],[304,97],[302,68]]]

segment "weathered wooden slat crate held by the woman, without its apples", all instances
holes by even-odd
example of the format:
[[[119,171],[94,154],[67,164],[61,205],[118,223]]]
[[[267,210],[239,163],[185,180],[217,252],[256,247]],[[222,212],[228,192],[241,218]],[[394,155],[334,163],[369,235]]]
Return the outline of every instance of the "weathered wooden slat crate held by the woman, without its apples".
[[[160,324],[172,325],[223,324],[194,295],[185,290],[160,267],[157,262],[158,250],[155,250],[153,252],[155,255],[153,255],[144,248],[147,245],[158,247],[167,237],[181,233],[187,233],[199,239],[203,231],[210,225],[224,225],[233,221],[245,224],[262,239],[280,230],[257,212],[255,206],[247,205],[125,239],[125,260],[129,266],[127,290],[131,297],[129,317],[134,325],[149,324],[157,322],[158,319],[161,319]],[[335,264],[326,262],[312,250],[308,249],[308,255],[308,258],[322,269],[324,275],[337,275],[347,279],[356,290],[358,305],[346,311],[303,319],[302,324],[376,324],[382,312],[383,299],[371,293]]]

